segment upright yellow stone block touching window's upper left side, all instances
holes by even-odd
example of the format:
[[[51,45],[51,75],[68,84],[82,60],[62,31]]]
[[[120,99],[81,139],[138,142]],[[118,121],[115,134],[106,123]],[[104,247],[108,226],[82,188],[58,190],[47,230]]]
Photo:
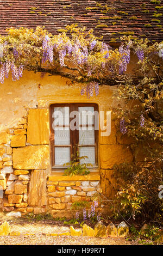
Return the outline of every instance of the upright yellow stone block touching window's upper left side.
[[[47,108],[29,109],[27,142],[33,145],[49,144],[49,119]]]

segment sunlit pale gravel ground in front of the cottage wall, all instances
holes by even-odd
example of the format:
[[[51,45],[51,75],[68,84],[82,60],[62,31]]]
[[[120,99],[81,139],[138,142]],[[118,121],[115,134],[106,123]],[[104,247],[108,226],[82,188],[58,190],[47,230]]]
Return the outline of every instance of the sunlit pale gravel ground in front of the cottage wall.
[[[4,221],[4,220],[3,220]],[[3,222],[0,218],[0,222]],[[0,236],[0,245],[131,245],[130,241],[123,238],[93,238],[84,236],[47,236],[52,233],[70,231],[70,227],[46,220],[29,222],[27,219],[6,220],[11,226],[11,231],[19,231],[20,236]],[[79,227],[75,227],[79,228]]]

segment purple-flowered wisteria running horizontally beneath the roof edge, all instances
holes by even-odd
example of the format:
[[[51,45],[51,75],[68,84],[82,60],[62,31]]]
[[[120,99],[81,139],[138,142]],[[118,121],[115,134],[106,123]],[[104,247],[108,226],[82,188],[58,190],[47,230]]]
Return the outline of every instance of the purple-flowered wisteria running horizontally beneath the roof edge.
[[[130,48],[135,50],[141,61],[147,56],[146,40],[137,43],[123,38],[119,49],[112,50],[91,31],[85,32],[84,28],[70,25],[66,31],[71,33],[71,38],[65,32],[52,35],[41,27],[35,31],[8,29],[7,36],[0,36],[0,82],[8,78],[10,71],[13,81],[18,80],[25,69],[52,74],[54,71],[54,74],[61,74],[75,82],[87,83],[81,94],[90,98],[99,94],[99,81],[109,84],[110,79],[127,70]],[[151,52],[157,52],[159,47],[155,44]]]

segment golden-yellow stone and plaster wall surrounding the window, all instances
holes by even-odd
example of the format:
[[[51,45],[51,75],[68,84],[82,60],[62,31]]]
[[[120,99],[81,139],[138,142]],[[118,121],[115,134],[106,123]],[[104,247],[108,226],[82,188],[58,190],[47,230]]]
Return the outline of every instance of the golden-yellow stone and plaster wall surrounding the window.
[[[116,87],[103,86],[98,97],[87,99],[81,97],[79,88],[67,87],[67,81],[58,76],[40,78],[28,72],[23,77],[21,82],[14,82],[15,87],[9,79],[0,88],[0,208],[22,214],[48,211],[54,216],[66,216],[72,211],[72,203],[91,202],[99,191],[108,198],[114,196],[114,164],[133,160],[130,140],[117,132],[114,117],[110,136],[102,137],[99,131],[99,167],[86,176],[67,177],[51,169],[49,106],[92,102],[98,104],[99,111],[110,111],[116,106],[112,101]]]

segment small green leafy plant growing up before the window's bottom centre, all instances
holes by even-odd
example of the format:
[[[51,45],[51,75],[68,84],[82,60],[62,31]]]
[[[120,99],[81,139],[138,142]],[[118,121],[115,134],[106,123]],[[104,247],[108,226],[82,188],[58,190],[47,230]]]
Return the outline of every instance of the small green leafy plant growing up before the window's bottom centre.
[[[74,154],[71,155],[72,161],[65,163],[64,166],[67,167],[64,171],[64,175],[87,175],[90,173],[87,167],[92,166],[91,163],[80,163],[80,160],[87,159],[87,156],[80,156],[79,151],[75,149]]]

